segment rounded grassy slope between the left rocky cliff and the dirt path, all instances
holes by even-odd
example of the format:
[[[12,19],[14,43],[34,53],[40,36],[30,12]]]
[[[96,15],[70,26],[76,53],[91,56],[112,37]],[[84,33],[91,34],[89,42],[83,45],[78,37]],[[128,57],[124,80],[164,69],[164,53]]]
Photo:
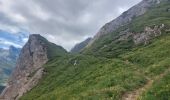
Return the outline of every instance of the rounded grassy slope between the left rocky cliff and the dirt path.
[[[84,55],[54,59],[45,65],[45,71],[39,84],[21,100],[120,99],[124,92],[146,82],[133,64]]]

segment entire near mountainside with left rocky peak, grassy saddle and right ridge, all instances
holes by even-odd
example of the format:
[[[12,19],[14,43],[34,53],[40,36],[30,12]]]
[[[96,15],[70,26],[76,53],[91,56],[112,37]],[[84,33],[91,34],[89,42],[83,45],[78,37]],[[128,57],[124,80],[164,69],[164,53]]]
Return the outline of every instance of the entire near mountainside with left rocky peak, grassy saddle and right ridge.
[[[143,0],[71,52],[39,34],[2,100],[170,100],[170,1]]]

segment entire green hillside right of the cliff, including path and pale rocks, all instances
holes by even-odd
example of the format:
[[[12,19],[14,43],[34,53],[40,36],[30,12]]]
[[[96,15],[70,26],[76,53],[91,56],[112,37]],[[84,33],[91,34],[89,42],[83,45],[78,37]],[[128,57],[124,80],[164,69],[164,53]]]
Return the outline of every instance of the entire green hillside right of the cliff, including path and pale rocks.
[[[169,100],[170,2],[141,4],[148,2],[144,14],[97,35],[81,54],[47,62],[20,100]]]

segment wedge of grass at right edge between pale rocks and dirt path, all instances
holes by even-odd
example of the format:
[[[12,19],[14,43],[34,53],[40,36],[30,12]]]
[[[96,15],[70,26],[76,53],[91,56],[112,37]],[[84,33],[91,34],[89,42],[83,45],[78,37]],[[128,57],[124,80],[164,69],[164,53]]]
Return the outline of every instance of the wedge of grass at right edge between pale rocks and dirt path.
[[[149,45],[138,46],[131,52],[120,55],[119,57],[140,66],[147,75],[159,75],[170,67],[169,39],[169,34],[163,35],[152,40]]]

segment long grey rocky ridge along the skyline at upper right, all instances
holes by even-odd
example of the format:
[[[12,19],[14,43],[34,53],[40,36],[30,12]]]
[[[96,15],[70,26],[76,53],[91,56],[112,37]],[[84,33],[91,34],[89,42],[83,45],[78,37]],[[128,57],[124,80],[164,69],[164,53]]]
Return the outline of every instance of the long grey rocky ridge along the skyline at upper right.
[[[152,5],[159,4],[161,1],[169,1],[169,0],[143,0],[141,1],[139,4],[135,5],[134,7],[124,12],[118,18],[105,24],[99,30],[99,32],[94,36],[94,38],[88,44],[88,46],[93,44],[93,42],[99,39],[101,36],[111,33],[115,31],[116,29],[118,29],[119,27],[130,23],[135,17],[143,15]]]

